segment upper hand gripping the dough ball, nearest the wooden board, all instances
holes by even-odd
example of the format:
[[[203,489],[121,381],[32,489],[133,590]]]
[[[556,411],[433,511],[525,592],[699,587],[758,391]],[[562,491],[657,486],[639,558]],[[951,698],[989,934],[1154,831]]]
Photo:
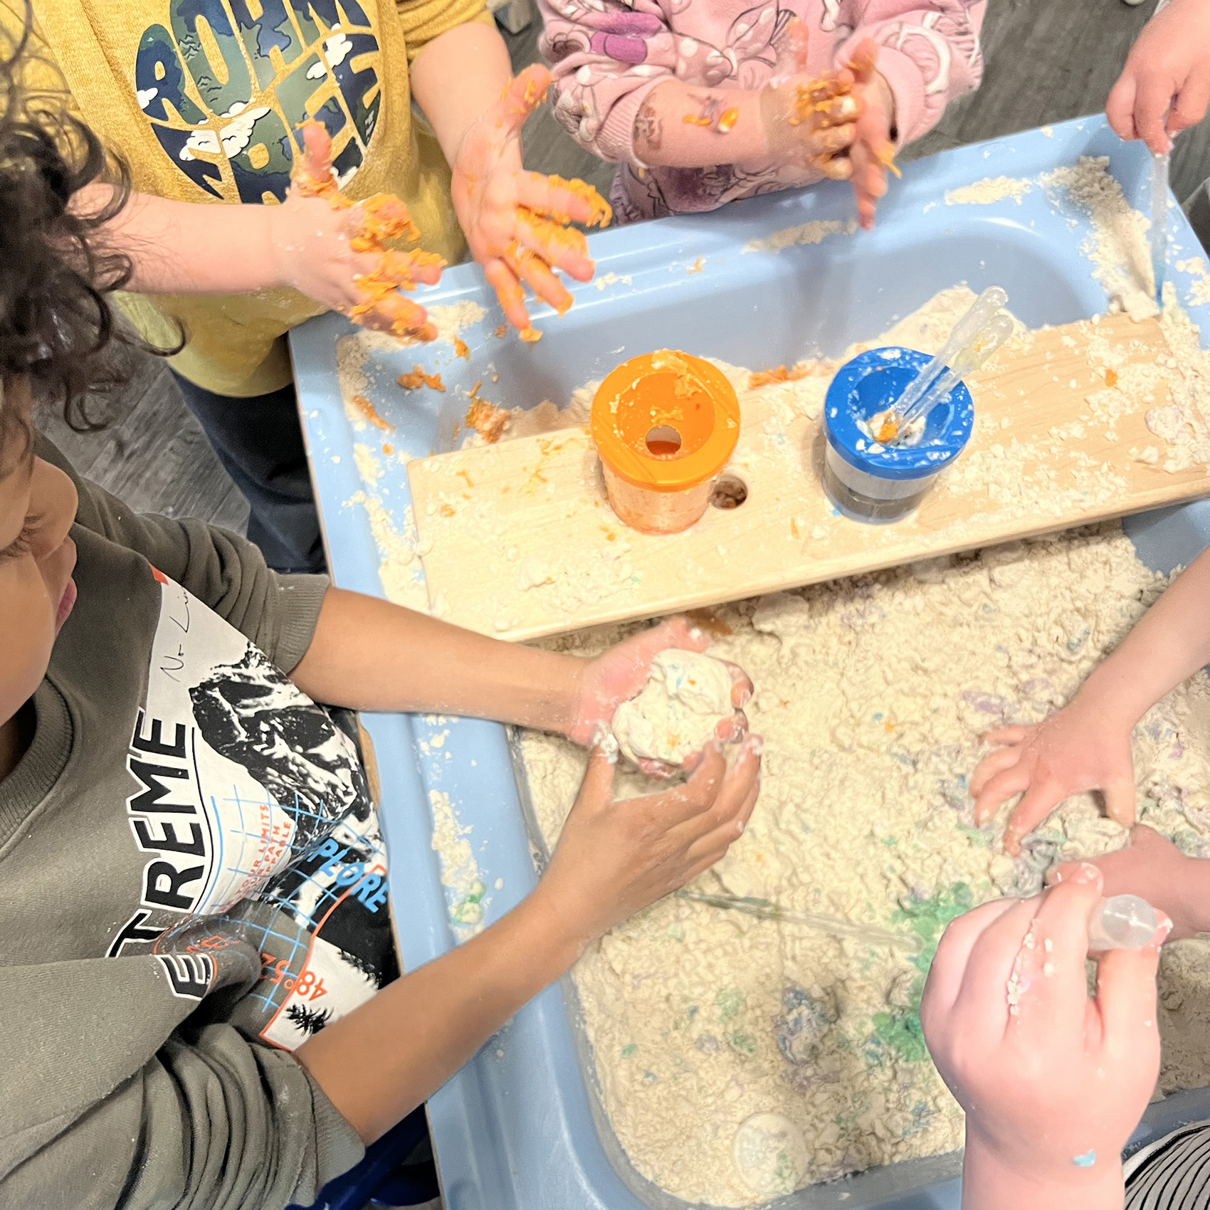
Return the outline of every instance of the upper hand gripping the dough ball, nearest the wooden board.
[[[692,627],[686,618],[673,617],[620,643],[605,655],[584,664],[580,682],[578,710],[567,730],[569,738],[577,744],[593,743],[598,727],[607,728],[613,719],[613,711],[643,690],[651,672],[651,661],[661,651],[668,647],[705,651],[709,646],[709,638]],[[727,667],[731,669],[731,702],[736,711],[730,719],[719,724],[718,734],[721,741],[734,743],[742,739],[748,730],[748,719],[742,707],[753,696],[753,682],[742,668],[734,664]],[[684,767],[695,768],[699,760],[701,754],[695,754],[685,761]],[[643,760],[639,767],[649,777],[669,777],[675,772],[655,760]]]

